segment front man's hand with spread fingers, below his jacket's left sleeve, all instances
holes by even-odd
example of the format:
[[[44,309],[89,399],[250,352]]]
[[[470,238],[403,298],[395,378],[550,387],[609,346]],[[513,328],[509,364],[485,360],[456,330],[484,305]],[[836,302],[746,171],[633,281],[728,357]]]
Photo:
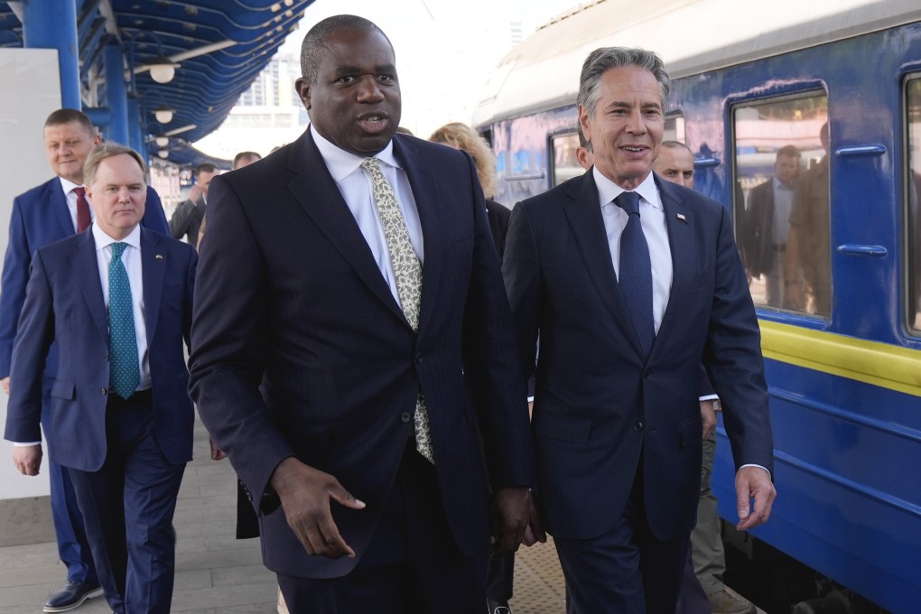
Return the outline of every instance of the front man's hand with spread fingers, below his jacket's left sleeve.
[[[355,557],[355,550],[345,543],[332,520],[330,499],[356,510],[365,508],[363,502],[329,473],[313,469],[294,457],[278,464],[271,483],[281,499],[288,527],[308,554],[331,559]]]

